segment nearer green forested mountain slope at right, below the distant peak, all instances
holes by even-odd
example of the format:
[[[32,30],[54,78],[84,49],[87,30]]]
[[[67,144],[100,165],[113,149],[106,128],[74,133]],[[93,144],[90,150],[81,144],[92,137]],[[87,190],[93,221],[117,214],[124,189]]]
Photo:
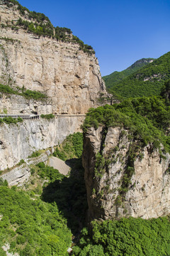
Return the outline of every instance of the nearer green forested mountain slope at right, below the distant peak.
[[[164,81],[169,78],[170,52],[110,86],[110,89],[125,98],[159,95]],[[107,80],[106,86],[109,87]]]

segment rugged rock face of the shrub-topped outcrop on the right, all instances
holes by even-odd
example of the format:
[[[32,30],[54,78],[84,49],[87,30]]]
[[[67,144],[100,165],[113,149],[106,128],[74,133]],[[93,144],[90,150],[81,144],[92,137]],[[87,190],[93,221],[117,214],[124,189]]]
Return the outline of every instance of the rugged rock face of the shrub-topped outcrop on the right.
[[[161,156],[150,144],[138,149],[130,162],[134,145],[120,127],[91,128],[86,133],[83,164],[89,220],[170,213],[170,155]]]

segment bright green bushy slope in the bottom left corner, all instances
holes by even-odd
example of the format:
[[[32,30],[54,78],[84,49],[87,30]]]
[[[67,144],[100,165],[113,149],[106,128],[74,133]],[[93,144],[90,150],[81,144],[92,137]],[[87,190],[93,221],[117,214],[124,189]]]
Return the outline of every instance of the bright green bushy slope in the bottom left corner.
[[[67,255],[71,233],[55,203],[34,200],[15,187],[0,186],[0,243],[21,256]],[[4,255],[0,246],[1,255]]]

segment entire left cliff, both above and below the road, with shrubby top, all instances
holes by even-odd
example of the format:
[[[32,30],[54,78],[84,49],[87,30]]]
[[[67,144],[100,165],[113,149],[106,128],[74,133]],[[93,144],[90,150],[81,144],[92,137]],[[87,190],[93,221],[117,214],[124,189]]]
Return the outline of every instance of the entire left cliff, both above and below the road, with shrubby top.
[[[0,0],[0,26],[0,113],[69,115],[1,124],[4,170],[77,132],[84,117],[76,115],[96,107],[106,88],[93,48],[69,28],[54,28],[44,14],[15,0]],[[24,95],[27,90],[45,97]]]

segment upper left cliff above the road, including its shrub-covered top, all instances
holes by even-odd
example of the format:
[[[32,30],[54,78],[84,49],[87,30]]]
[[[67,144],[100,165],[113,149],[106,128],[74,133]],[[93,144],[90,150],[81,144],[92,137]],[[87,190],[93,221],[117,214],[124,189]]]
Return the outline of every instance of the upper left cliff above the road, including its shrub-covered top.
[[[106,89],[91,46],[69,28],[55,28],[44,14],[15,0],[0,0],[0,11],[0,83],[20,95],[26,90],[40,92],[48,102],[29,104],[16,96],[15,102],[1,102],[2,111],[85,114],[98,105],[97,97]]]

